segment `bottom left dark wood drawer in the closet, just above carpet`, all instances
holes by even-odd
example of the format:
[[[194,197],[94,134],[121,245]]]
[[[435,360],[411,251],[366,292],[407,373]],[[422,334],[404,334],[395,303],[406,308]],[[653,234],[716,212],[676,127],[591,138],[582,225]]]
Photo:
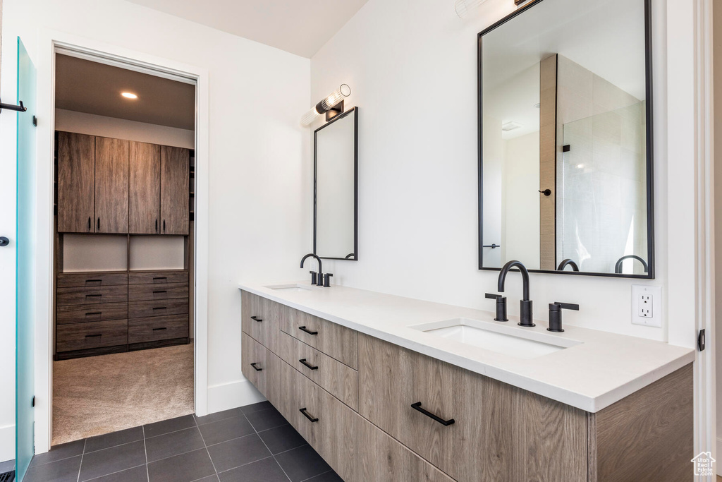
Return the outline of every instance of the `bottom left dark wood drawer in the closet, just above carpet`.
[[[56,343],[58,352],[126,345],[128,320],[58,324]]]

